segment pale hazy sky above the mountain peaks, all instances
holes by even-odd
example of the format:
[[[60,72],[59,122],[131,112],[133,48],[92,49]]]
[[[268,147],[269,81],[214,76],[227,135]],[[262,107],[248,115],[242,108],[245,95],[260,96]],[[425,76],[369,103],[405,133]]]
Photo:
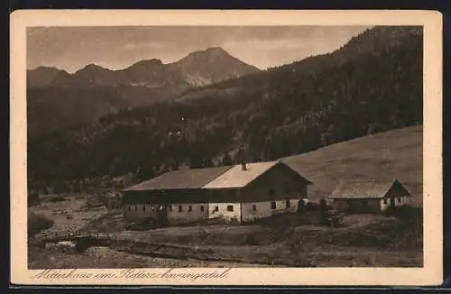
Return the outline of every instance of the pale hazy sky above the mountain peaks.
[[[124,69],[139,60],[170,63],[193,51],[222,47],[267,69],[335,51],[365,26],[121,26],[33,27],[27,32],[27,68],[74,72],[87,64]]]

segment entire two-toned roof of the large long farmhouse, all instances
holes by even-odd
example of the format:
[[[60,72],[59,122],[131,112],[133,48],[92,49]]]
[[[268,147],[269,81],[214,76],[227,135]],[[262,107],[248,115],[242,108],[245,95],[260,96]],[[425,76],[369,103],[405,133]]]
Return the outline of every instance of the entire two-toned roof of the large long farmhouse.
[[[124,191],[178,188],[243,188],[251,183],[253,179],[257,179],[279,163],[285,165],[281,161],[265,161],[245,163],[245,169],[243,169],[242,164],[237,164],[216,168],[175,170],[143,181],[131,188],[124,189]],[[301,176],[299,175],[299,177]],[[305,180],[308,181],[308,179]]]

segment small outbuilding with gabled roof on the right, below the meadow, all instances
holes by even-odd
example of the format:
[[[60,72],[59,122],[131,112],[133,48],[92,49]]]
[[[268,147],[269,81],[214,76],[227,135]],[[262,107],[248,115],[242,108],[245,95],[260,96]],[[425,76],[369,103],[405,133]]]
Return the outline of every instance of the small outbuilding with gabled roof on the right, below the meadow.
[[[407,203],[410,192],[396,179],[391,181],[342,182],[327,197],[339,210],[351,212],[382,212],[389,207]]]

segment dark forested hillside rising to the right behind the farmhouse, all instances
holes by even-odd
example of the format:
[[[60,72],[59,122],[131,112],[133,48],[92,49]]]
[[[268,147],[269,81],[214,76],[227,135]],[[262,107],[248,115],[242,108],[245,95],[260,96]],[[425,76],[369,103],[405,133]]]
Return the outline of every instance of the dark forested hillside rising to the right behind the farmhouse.
[[[29,181],[64,189],[105,175],[139,180],[414,124],[422,124],[421,29],[375,27],[330,54],[30,139]]]

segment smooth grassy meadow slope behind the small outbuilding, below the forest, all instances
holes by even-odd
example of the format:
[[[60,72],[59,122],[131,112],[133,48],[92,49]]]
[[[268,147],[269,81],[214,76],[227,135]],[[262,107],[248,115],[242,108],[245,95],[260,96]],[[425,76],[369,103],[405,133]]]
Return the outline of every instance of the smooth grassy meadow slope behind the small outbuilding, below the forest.
[[[420,205],[422,138],[422,125],[416,125],[336,143],[282,161],[313,181],[310,195],[314,200],[327,196],[340,180],[396,178],[412,193],[412,204]]]

